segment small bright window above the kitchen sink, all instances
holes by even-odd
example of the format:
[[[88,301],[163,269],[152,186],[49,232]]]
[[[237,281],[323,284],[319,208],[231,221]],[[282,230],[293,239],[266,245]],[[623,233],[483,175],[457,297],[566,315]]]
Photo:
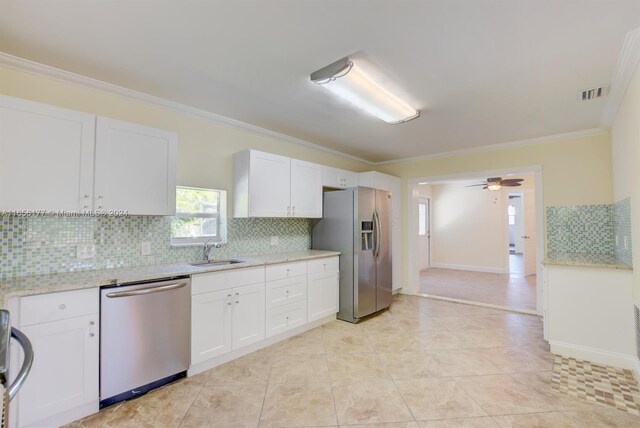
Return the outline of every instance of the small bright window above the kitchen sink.
[[[226,215],[224,190],[176,187],[176,216],[171,220],[171,244],[193,245],[222,242]]]

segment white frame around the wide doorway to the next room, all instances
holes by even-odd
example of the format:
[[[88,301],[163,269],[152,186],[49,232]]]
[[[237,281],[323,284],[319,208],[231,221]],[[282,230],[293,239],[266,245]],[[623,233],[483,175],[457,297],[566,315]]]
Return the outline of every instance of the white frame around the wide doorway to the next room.
[[[544,258],[545,234],[544,234],[544,192],[542,187],[542,166],[529,165],[514,168],[503,168],[493,170],[471,171],[458,174],[447,174],[437,176],[423,176],[410,178],[407,180],[407,225],[408,233],[408,281],[407,288],[401,290],[404,294],[417,294],[420,290],[420,269],[416,255],[418,254],[418,195],[414,188],[418,184],[442,184],[451,181],[473,180],[478,177],[501,177],[509,174],[528,174],[535,178],[535,198],[536,198],[536,313],[544,316],[545,296],[542,260]]]

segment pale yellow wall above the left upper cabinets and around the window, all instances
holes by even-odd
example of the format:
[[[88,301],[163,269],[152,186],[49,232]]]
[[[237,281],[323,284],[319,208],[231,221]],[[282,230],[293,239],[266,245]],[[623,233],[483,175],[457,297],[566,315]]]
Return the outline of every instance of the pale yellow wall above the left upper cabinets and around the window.
[[[232,154],[248,148],[357,172],[372,169],[343,156],[265,134],[9,68],[0,67],[0,94],[175,131],[178,133],[178,184],[226,189],[229,198],[232,197]]]

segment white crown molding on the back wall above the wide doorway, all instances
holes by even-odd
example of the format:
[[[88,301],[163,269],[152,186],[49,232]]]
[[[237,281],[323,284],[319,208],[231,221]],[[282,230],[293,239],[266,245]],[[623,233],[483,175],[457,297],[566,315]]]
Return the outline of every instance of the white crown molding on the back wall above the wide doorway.
[[[453,156],[464,156],[476,153],[495,152],[497,150],[513,149],[516,147],[535,146],[537,144],[545,144],[552,141],[573,140],[575,138],[589,137],[592,135],[606,134],[609,132],[605,128],[592,128],[582,131],[564,132],[561,134],[547,135],[544,137],[527,138],[525,140],[512,141],[509,143],[490,144],[488,146],[475,147],[472,149],[452,150],[450,152],[435,153],[425,156],[414,156],[409,158],[393,159],[388,161],[376,162],[375,165],[389,165],[402,162],[417,162],[433,159],[450,158]]]

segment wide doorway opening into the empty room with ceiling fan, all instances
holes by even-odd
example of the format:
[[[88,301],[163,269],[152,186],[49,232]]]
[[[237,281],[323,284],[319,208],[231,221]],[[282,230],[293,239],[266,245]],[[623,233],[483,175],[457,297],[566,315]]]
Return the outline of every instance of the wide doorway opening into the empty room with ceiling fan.
[[[521,187],[500,191],[475,187],[486,177],[496,176],[525,180]],[[453,194],[448,189],[456,183],[459,193]],[[410,180],[409,206],[413,209],[409,224],[415,230],[410,234],[409,267],[410,285],[415,288],[407,287],[405,292],[542,314],[543,290],[537,271],[543,251],[536,239],[536,232],[542,230],[541,184],[541,171],[536,167]],[[416,191],[426,185],[433,189],[428,201]],[[443,196],[445,190],[449,193]],[[473,207],[466,200],[482,205]],[[443,211],[446,203],[455,209]],[[425,235],[418,229],[427,206],[430,260],[425,267],[421,246],[427,229]],[[469,238],[473,234],[475,241]],[[451,242],[457,246],[452,247]],[[471,253],[478,256],[473,258]],[[489,257],[489,253],[495,255]]]

